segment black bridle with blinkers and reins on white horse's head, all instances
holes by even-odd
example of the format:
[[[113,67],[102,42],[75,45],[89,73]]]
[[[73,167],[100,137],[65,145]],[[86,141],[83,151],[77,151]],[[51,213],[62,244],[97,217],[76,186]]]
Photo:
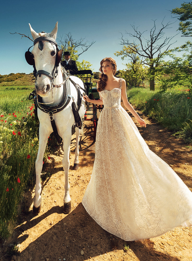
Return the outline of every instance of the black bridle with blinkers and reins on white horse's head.
[[[39,45],[38,45],[39,50],[42,51],[43,46],[44,46],[43,41],[48,41],[49,43],[54,44],[56,46],[56,59],[55,59],[55,66],[54,66],[54,69],[53,69],[53,73],[46,72],[45,70],[38,70],[37,71],[36,67],[35,67],[35,60],[33,58],[33,54],[29,51],[29,49],[31,47],[33,47],[37,42],[39,42]],[[54,85],[54,79],[56,78],[56,76],[58,74],[58,67],[59,67],[59,63],[60,63],[61,58],[62,58],[63,50],[62,49],[59,50],[57,43],[49,37],[38,37],[38,38],[36,38],[33,41],[33,45],[31,47],[28,49],[27,52],[25,52],[25,59],[26,59],[28,64],[33,66],[33,68],[34,68],[33,75],[36,78],[36,81],[37,81],[37,76],[39,75],[39,77],[41,77],[42,74],[51,79],[51,91],[52,91],[52,102],[53,102],[53,88],[54,87],[59,88],[68,79],[68,78],[65,79],[65,81],[63,81],[60,85]],[[47,104],[49,104],[49,103],[47,103]]]

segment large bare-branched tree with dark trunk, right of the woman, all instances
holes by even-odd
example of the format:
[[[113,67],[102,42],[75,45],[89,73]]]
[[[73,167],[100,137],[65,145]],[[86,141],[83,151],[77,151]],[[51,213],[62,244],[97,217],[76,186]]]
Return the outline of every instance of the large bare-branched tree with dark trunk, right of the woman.
[[[166,51],[169,49],[169,47],[174,44],[170,43],[170,41],[173,39],[173,37],[165,37],[164,29],[171,28],[169,27],[173,23],[168,22],[166,25],[163,24],[163,21],[161,22],[161,29],[159,31],[156,30],[156,25],[154,21],[154,26],[152,29],[150,29],[150,36],[148,39],[144,37],[144,32],[140,32],[138,30],[138,27],[135,27],[132,25],[132,28],[135,33],[127,33],[130,37],[133,37],[133,43],[129,39],[125,39],[123,37],[123,34],[121,33],[121,45],[127,45],[129,46],[129,53],[127,53],[127,56],[130,57],[130,53],[136,53],[141,57],[142,63],[149,66],[149,72],[150,72],[150,90],[155,90],[155,68],[159,66],[161,58],[165,55]],[[177,34],[176,34],[177,35]],[[139,48],[140,46],[140,48]],[[125,54],[124,54],[125,55]]]

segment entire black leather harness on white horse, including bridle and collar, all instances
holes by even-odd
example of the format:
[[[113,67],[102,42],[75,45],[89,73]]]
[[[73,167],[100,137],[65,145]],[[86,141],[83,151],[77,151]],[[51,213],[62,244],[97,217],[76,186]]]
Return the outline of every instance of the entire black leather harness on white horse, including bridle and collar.
[[[43,50],[43,42],[42,41],[49,41],[50,43],[56,45],[56,60],[55,60],[55,66],[53,69],[53,74],[46,72],[44,70],[36,70],[35,68],[35,62],[32,56],[32,53],[29,51],[29,49],[37,42],[39,42],[38,48],[40,50]],[[61,87],[61,85],[63,85],[63,98],[62,101],[54,106],[47,106],[45,105],[45,103],[42,103],[42,97],[38,96],[36,94],[36,91],[33,91],[30,93],[29,95],[29,100],[33,100],[34,104],[35,104],[35,114],[37,115],[37,108],[39,108],[41,111],[48,113],[49,117],[50,117],[50,121],[51,121],[51,126],[53,128],[53,133],[55,135],[56,140],[61,143],[62,142],[62,138],[60,138],[58,131],[57,131],[57,127],[56,127],[56,123],[55,120],[53,118],[53,114],[62,111],[70,102],[71,99],[73,99],[72,102],[72,111],[73,111],[73,115],[74,115],[74,119],[75,119],[75,125],[76,127],[78,127],[79,129],[82,128],[82,122],[81,122],[81,118],[79,116],[79,109],[81,107],[81,102],[82,102],[82,94],[80,93],[80,88],[86,93],[86,90],[84,90],[82,87],[80,87],[78,84],[76,84],[73,80],[71,80],[69,78],[70,74],[64,73],[63,74],[63,82],[60,85],[54,85],[54,78],[57,76],[58,74],[58,67],[59,67],[59,63],[61,61],[61,57],[62,57],[62,51],[63,50],[59,50],[57,47],[57,43],[49,38],[49,37],[38,37],[34,40],[33,45],[28,49],[28,51],[25,53],[25,58],[28,64],[33,65],[34,71],[33,74],[37,80],[37,76],[39,75],[39,77],[41,76],[41,74],[48,76],[51,79],[51,90],[52,90],[52,102],[53,102],[53,88],[59,88]],[[65,79],[64,79],[65,78]],[[77,91],[77,106],[78,108],[76,108],[75,102],[74,102],[74,98],[71,95],[71,90],[70,90],[70,82],[72,82],[72,84],[75,86],[76,91]],[[48,104],[48,103],[46,103]]]

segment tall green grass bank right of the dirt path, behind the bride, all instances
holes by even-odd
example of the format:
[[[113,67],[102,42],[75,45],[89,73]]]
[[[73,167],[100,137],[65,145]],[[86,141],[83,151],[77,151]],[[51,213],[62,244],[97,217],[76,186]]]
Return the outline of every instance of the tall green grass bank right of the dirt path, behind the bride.
[[[172,130],[175,135],[192,142],[192,97],[189,90],[150,91],[132,88],[127,91],[131,104],[149,117]]]

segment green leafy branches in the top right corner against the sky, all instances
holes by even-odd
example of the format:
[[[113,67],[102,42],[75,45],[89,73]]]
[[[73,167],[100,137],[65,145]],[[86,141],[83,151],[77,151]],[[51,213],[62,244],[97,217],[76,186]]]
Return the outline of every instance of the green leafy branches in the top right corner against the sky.
[[[192,34],[192,2],[183,3],[181,7],[177,7],[172,10],[172,14],[178,15],[177,18],[179,21],[179,28],[184,35],[188,36]]]

